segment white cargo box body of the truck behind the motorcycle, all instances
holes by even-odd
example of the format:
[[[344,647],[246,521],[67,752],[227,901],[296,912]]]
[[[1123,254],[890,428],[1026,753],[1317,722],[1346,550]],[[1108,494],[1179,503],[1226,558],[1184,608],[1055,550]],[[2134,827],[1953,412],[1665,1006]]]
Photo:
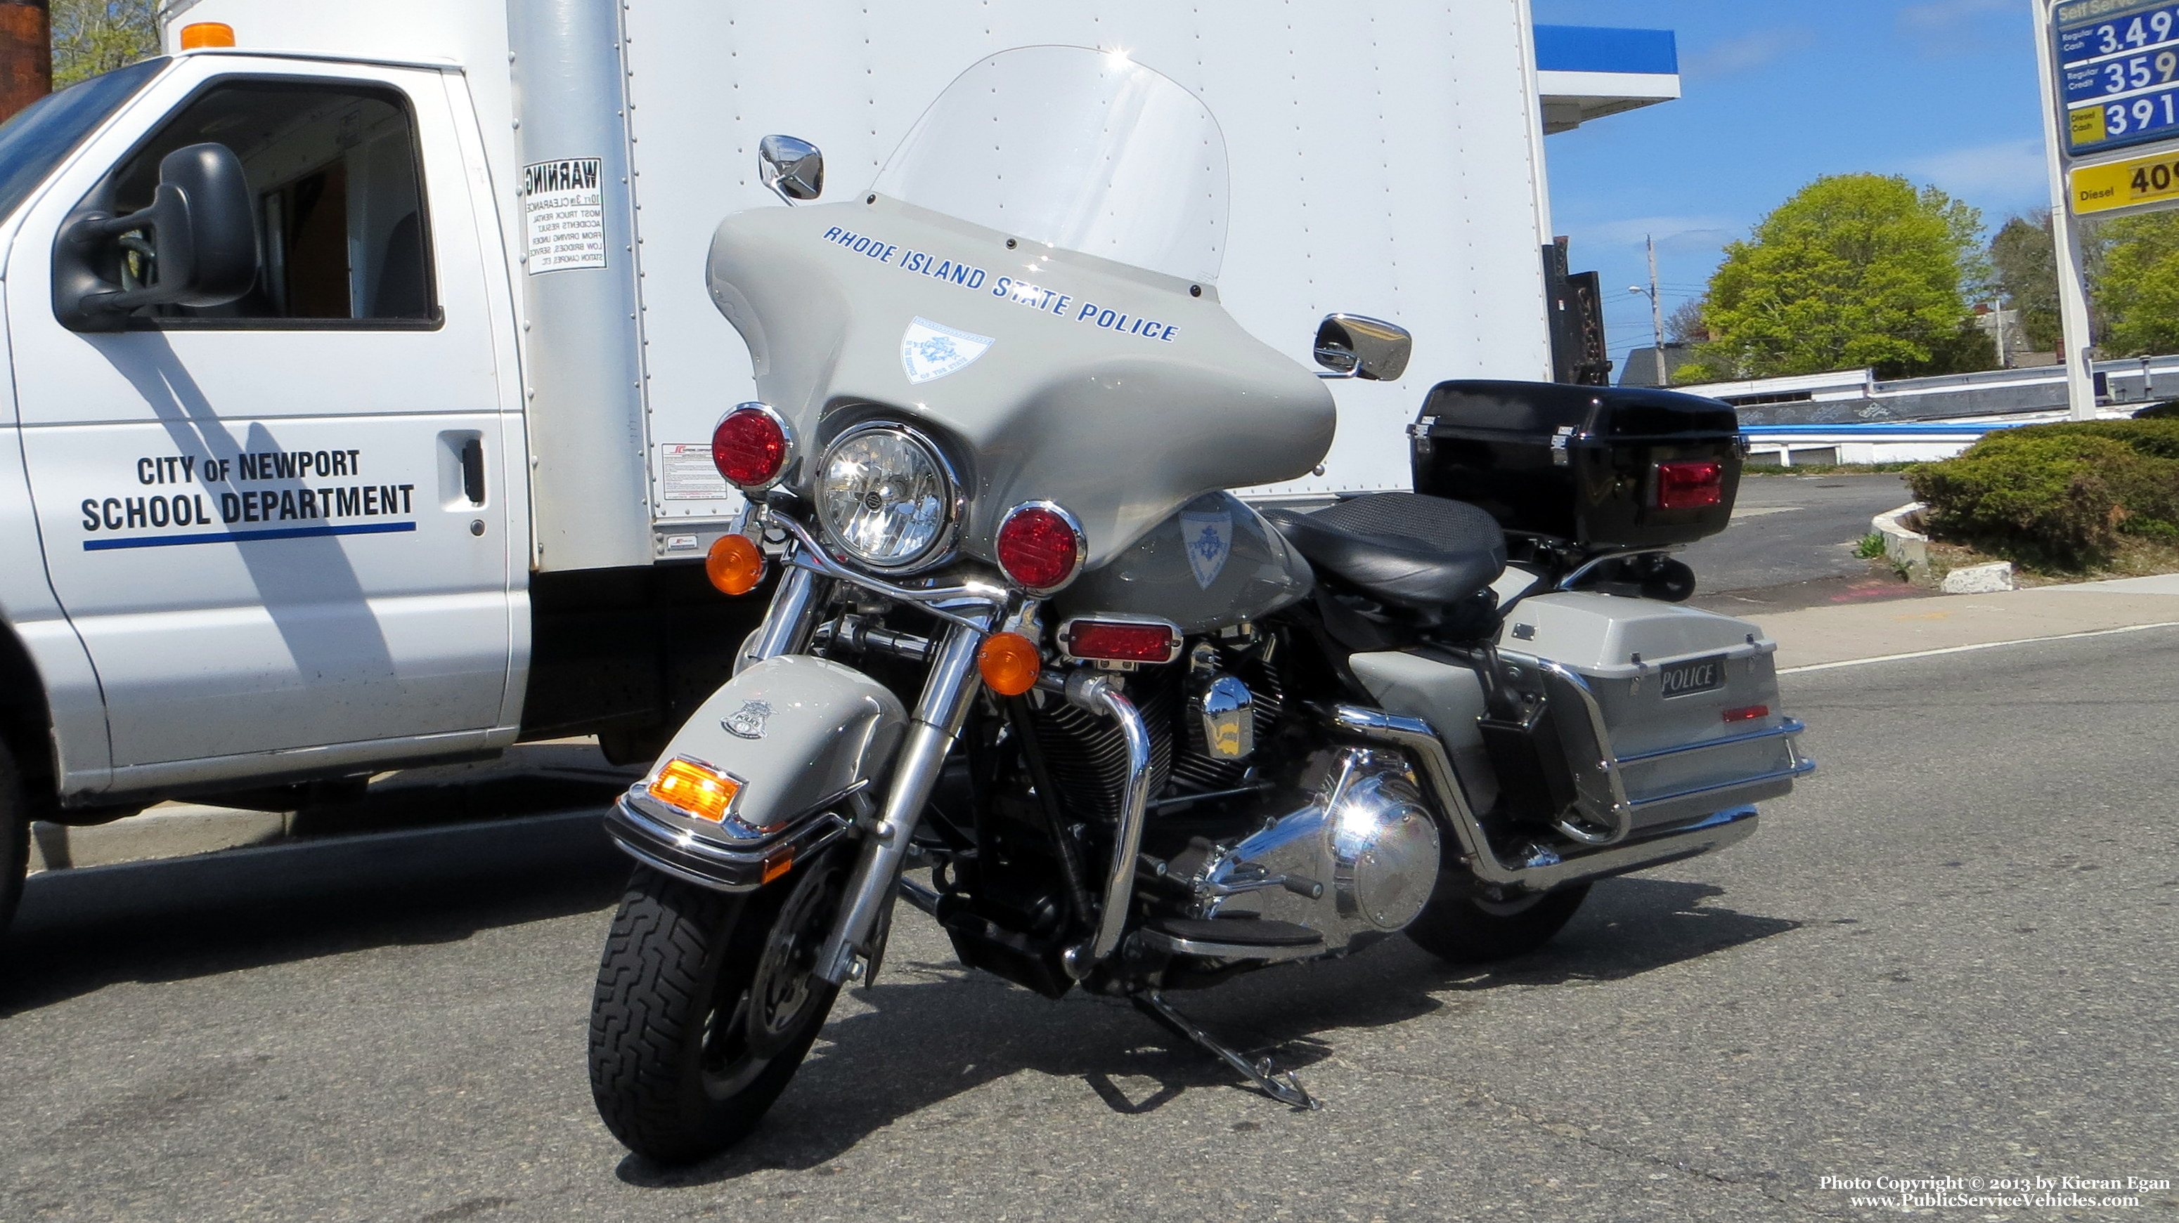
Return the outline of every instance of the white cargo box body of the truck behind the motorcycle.
[[[1342,427],[1325,474],[1264,492],[1405,487],[1401,427],[1434,383],[1551,376],[1538,263],[1549,242],[1543,120],[1525,0],[1275,9],[1246,0],[198,0],[172,9],[170,30],[187,22],[231,24],[242,50],[460,63],[516,259],[523,165],[625,159],[632,233],[614,228],[608,209],[608,268],[529,274],[636,285],[641,326],[619,337],[632,346],[625,366],[641,368],[643,387],[619,405],[623,433],[599,427],[595,437],[641,437],[649,479],[643,490],[584,496],[584,514],[634,516],[647,505],[643,527],[656,524],[660,555],[673,555],[667,538],[691,533],[675,524],[719,522],[739,505],[702,496],[726,490],[686,446],[706,442],[723,409],[752,396],[747,355],[706,298],[702,268],[721,215],[780,207],[756,178],[756,141],[787,133],[817,144],[826,198],[850,198],[954,76],[1013,46],[1122,50],[1203,96],[1231,157],[1231,246],[1218,292],[1242,326],[1301,361],[1327,311],[1371,313],[1414,333],[1405,379],[1336,390]],[[625,39],[621,54],[601,46],[614,33]],[[525,57],[510,39],[534,50]],[[625,57],[625,150],[601,148],[604,124],[586,139],[529,139],[540,122],[532,111],[543,111],[536,61],[549,52],[562,54],[549,65],[556,78],[584,52],[608,63]],[[610,120],[614,100],[591,94],[582,111]],[[516,128],[516,118],[527,126]],[[525,270],[516,261],[510,274]],[[538,348],[532,331],[525,359],[536,363]],[[601,405],[571,407],[593,413]],[[547,437],[553,424],[532,411]],[[556,555],[560,455],[540,450],[538,459],[538,568],[595,564],[588,553]],[[630,564],[623,548],[608,555]]]

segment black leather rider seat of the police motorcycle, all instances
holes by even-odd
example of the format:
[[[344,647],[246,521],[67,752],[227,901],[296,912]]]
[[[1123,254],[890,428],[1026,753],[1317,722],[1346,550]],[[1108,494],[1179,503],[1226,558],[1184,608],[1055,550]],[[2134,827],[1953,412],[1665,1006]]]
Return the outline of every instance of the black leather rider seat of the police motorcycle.
[[[1377,492],[1316,514],[1264,514],[1318,572],[1395,607],[1471,601],[1506,572],[1506,531],[1464,501]]]

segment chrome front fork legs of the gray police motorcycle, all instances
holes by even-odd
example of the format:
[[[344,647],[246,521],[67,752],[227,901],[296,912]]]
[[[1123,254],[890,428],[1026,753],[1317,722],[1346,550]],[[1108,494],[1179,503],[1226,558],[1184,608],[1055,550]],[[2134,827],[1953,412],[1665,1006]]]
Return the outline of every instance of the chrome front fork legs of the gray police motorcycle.
[[[789,568],[780,577],[780,590],[771,596],[765,625],[750,640],[734,670],[808,648],[817,616],[826,605],[826,588],[830,588],[830,579],[800,566]],[[867,964],[878,955],[878,929],[893,903],[893,888],[909,857],[909,838],[915,836],[915,823],[946,768],[946,753],[952,751],[976,696],[976,646],[983,644],[983,635],[985,629],[948,622],[930,659],[924,696],[915,703],[909,733],[893,757],[893,781],[878,810],[878,823],[863,840],[863,855],[848,881],[848,899],[832,923],[832,936],[817,953],[813,973],[832,986],[865,977]]]

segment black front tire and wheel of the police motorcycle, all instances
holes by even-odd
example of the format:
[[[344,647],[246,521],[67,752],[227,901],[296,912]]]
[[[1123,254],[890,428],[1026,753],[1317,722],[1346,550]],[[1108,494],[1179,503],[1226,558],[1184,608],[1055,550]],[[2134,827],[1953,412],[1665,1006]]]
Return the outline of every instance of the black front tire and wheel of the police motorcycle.
[[[734,897],[636,868],[591,1001],[591,1095],[630,1151],[713,1156],[787,1090],[839,992],[811,968],[848,862],[824,853]]]

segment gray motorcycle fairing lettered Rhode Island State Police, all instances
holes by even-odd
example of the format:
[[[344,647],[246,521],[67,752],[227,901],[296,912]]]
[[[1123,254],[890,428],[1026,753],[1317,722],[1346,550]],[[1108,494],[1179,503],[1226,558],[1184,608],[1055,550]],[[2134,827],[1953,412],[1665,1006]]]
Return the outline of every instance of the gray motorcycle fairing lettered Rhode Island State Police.
[[[1018,292],[1024,281],[1035,292]],[[1009,507],[1055,501],[1098,568],[1190,498],[1297,479],[1331,446],[1331,394],[1242,331],[1212,285],[1009,248],[1005,233],[885,196],[726,218],[708,285],[750,344],[758,394],[795,431],[789,487],[808,492],[841,429],[904,420],[952,450],[970,498],[959,548],[976,559],[991,559]],[[911,383],[917,318],[991,346]]]

